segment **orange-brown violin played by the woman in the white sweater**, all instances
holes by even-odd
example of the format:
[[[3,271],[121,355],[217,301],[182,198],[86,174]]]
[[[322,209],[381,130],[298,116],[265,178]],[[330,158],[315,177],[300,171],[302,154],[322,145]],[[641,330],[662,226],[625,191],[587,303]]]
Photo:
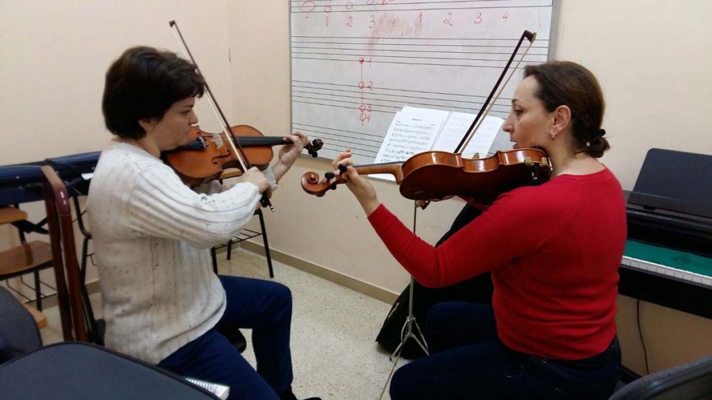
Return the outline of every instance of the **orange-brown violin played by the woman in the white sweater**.
[[[253,167],[260,170],[269,167],[273,158],[273,146],[292,144],[284,137],[269,137],[249,125],[236,125],[230,128],[236,142],[240,144],[245,156]],[[225,169],[240,168],[239,160],[226,142],[224,132],[204,132],[200,127],[191,127],[190,142],[176,149],[161,154],[184,183],[199,186],[213,179],[218,179]],[[318,156],[323,146],[320,139],[309,142],[304,148],[312,157]]]

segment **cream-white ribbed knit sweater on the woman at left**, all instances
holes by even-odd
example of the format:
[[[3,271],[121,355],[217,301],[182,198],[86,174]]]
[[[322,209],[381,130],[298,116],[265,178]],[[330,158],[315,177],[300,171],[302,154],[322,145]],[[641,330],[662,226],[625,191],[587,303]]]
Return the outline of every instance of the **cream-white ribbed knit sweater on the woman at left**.
[[[276,188],[271,169],[266,176]],[[209,248],[244,228],[260,194],[251,183],[201,189],[130,144],[102,152],[88,216],[107,347],[157,363],[222,316],[225,293]]]

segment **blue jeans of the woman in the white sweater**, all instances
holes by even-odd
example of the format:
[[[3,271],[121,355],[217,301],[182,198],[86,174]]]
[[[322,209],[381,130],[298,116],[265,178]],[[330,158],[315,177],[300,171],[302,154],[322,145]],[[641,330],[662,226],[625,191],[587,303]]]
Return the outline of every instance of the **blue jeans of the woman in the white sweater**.
[[[292,293],[281,283],[220,276],[227,304],[218,324],[162,359],[158,366],[184,377],[230,386],[229,399],[278,399],[292,383],[289,335]],[[257,371],[228,340],[252,329]]]

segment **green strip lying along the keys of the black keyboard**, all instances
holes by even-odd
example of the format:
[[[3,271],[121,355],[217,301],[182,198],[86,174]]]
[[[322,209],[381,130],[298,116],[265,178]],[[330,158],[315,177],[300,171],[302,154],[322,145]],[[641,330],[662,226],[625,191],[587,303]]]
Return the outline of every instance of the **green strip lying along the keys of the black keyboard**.
[[[696,254],[687,253],[685,251],[653,246],[629,239],[625,243],[625,251],[623,254],[639,260],[650,261],[651,263],[658,263],[692,273],[712,276],[712,258],[697,256]]]

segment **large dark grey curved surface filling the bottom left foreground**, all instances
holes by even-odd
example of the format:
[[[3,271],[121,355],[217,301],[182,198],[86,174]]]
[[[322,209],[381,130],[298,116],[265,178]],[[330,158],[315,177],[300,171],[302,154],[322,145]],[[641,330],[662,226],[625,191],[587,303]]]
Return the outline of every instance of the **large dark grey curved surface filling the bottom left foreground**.
[[[208,391],[103,347],[62,342],[0,365],[0,399],[217,399]]]

